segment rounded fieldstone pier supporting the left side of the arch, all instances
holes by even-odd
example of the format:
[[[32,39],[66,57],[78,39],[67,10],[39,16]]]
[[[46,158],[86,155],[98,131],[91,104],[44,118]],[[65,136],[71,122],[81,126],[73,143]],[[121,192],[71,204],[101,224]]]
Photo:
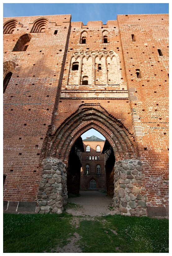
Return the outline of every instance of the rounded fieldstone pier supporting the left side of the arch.
[[[36,212],[62,213],[67,203],[66,164],[55,158],[44,159],[43,163]]]

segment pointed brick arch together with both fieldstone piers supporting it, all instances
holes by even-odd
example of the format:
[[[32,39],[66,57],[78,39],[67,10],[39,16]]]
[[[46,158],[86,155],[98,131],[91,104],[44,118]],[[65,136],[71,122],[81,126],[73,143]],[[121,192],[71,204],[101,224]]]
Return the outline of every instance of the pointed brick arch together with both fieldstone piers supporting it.
[[[51,145],[51,147],[49,150],[47,148],[46,151],[47,158],[44,159],[44,172],[46,173],[46,170],[48,170],[48,173],[51,173],[52,177],[57,176],[56,181],[50,181],[50,183],[53,183],[53,187],[57,187],[53,188],[52,197],[58,195],[58,198],[55,199],[57,202],[52,206],[55,207],[52,211],[59,211],[61,213],[63,211],[63,205],[67,203],[67,172],[71,170],[71,166],[68,164],[70,153],[72,152],[72,147],[75,147],[77,139],[91,128],[100,132],[107,139],[112,149],[111,152],[115,156],[116,161],[114,167],[107,163],[106,168],[106,171],[109,170],[109,179],[114,183],[113,207],[118,208],[121,214],[146,216],[146,192],[142,192],[145,191],[144,188],[142,189],[143,167],[142,163],[135,156],[134,137],[129,133],[124,124],[110,115],[100,104],[80,105],[75,113],[64,120],[54,133],[51,141],[49,140],[49,143],[47,143],[47,147],[48,145]],[[47,139],[49,139],[48,136]],[[79,162],[77,167],[79,170]],[[53,174],[54,172],[57,173]],[[79,172],[77,174],[79,177]],[[46,187],[44,188],[44,179],[40,183],[39,189],[41,190],[40,193],[46,190]],[[57,194],[54,195],[53,193],[56,190]],[[134,194],[133,198],[130,198],[128,195],[131,192]],[[39,195],[39,197],[42,197],[42,195]],[[138,198],[141,198],[139,202],[137,202]],[[52,203],[54,203],[53,199],[49,201],[47,199],[48,210],[49,205]]]

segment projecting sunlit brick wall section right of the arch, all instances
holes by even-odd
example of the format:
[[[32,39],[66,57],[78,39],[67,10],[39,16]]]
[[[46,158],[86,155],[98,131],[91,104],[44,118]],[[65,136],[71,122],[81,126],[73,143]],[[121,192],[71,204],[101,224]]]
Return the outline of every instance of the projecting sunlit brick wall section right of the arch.
[[[137,156],[144,163],[147,205],[164,206],[168,204],[168,15],[121,15],[117,20],[128,88],[135,88],[137,97],[129,106]]]

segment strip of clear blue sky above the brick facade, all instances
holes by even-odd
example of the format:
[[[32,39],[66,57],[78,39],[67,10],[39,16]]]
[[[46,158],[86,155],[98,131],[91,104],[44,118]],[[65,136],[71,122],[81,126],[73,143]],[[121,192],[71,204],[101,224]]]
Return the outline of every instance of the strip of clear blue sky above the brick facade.
[[[116,20],[117,14],[169,13],[169,4],[165,3],[166,1],[163,2],[164,3],[3,3],[3,17],[71,14],[72,21],[82,21],[84,25],[86,25],[88,21],[93,20],[101,20],[103,24],[106,24],[108,20]]]

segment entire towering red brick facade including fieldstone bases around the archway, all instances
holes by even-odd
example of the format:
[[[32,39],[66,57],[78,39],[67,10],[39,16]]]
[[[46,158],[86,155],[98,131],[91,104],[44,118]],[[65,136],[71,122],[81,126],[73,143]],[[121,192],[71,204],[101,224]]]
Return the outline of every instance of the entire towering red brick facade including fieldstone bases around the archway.
[[[95,128],[115,157],[113,206],[167,216],[168,18],[4,18],[5,211],[60,213],[72,147]]]

